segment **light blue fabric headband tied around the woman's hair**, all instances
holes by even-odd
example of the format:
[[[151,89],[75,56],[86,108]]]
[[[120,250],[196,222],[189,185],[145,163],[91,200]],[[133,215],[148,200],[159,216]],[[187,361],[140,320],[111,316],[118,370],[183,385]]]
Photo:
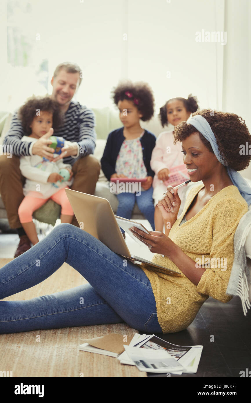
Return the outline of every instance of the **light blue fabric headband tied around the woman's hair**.
[[[195,115],[187,120],[187,124],[194,126],[195,129],[197,129],[199,133],[201,133],[205,137],[205,139],[210,142],[213,152],[216,155],[218,161],[222,165],[227,166],[227,162],[220,155],[215,135],[212,132],[210,124],[207,122],[207,120],[201,115]],[[229,167],[227,168],[227,172],[232,183],[234,184],[234,186],[238,187],[239,192],[241,193],[242,197],[244,197],[249,206],[249,204],[251,204],[251,187],[241,176],[241,174],[239,174],[239,172]]]

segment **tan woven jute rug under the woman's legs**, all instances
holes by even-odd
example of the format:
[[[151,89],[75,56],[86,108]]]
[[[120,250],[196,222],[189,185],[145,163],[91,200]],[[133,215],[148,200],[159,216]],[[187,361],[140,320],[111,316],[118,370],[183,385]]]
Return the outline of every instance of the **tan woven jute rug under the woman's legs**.
[[[0,259],[0,268],[11,260]],[[31,299],[84,283],[87,281],[81,274],[64,263],[42,283],[4,300]],[[146,372],[120,364],[117,358],[78,349],[84,338],[108,333],[133,336],[136,332],[125,323],[117,323],[0,334],[0,371],[12,371],[13,377],[146,377]],[[40,337],[39,342],[37,335]]]

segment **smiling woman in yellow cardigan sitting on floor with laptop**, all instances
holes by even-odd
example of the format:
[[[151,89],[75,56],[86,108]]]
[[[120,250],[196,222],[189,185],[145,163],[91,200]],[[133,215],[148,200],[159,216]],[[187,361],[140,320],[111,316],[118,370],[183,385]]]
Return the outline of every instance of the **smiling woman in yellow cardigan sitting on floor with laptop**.
[[[156,253],[153,262],[178,273],[125,264],[92,235],[61,224],[0,269],[0,299],[40,283],[64,262],[89,284],[27,301],[0,301],[0,333],[118,322],[172,333],[187,328],[209,296],[230,301],[234,233],[251,204],[251,188],[236,171],[249,165],[251,156],[240,147],[250,145],[251,136],[237,115],[201,110],[174,129],[174,139],[182,141],[191,181],[203,184],[190,190],[179,218],[180,198],[168,187],[158,202],[165,234],[132,231]]]

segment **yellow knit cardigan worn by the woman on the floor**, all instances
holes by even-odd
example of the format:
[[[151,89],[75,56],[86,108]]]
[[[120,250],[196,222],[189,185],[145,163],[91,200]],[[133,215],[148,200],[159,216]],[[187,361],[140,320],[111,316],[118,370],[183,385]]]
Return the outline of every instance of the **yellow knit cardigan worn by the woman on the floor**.
[[[169,233],[170,239],[189,258],[197,263],[200,262],[197,258],[201,259],[202,264],[205,262],[206,270],[199,284],[193,284],[166,256],[163,258],[155,254],[151,261],[180,274],[167,274],[165,270],[146,264],[140,266],[150,280],[163,333],[186,329],[209,296],[224,303],[232,299],[232,296],[226,295],[226,288],[234,261],[234,232],[241,217],[248,211],[247,202],[236,186],[225,187],[194,217],[179,226],[194,197],[203,187],[201,184],[190,190],[183,212]],[[221,262],[226,262],[226,267],[214,258],[222,258]]]

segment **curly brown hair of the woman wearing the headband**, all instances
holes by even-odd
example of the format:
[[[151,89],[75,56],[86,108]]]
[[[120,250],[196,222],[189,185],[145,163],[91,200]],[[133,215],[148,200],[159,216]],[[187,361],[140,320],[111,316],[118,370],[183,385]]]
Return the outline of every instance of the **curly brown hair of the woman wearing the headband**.
[[[225,113],[203,109],[192,114],[201,115],[210,124],[215,135],[220,155],[226,160],[228,166],[236,171],[241,171],[249,166],[251,155],[241,155],[241,145],[251,144],[251,135],[245,120],[234,113]],[[176,141],[183,141],[192,133],[199,133],[199,138],[207,149],[212,152],[209,141],[193,125],[181,122],[174,128],[174,144]]]

